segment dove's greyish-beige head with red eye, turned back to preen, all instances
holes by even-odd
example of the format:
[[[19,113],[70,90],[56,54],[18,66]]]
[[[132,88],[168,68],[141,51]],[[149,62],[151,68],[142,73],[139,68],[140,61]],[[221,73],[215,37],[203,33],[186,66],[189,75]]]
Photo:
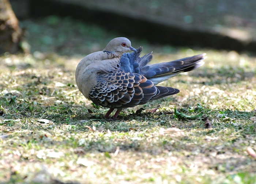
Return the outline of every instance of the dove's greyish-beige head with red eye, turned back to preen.
[[[134,49],[131,46],[131,41],[129,41],[129,39],[124,37],[118,37],[118,38],[112,39],[103,51],[107,51],[107,52],[114,53],[116,55],[121,56],[123,53],[130,50],[136,52],[136,49]]]

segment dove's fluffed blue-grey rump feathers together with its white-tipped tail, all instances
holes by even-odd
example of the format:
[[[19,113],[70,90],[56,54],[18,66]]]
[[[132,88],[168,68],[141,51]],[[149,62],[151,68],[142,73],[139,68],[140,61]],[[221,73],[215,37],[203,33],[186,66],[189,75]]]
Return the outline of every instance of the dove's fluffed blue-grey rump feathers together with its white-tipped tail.
[[[136,52],[124,53],[120,58],[120,67],[124,71],[138,73],[153,81],[155,85],[168,80],[181,72],[195,70],[204,64],[205,54],[194,55],[180,60],[162,62],[148,65],[152,60],[152,52],[139,57],[143,47],[139,47]]]

